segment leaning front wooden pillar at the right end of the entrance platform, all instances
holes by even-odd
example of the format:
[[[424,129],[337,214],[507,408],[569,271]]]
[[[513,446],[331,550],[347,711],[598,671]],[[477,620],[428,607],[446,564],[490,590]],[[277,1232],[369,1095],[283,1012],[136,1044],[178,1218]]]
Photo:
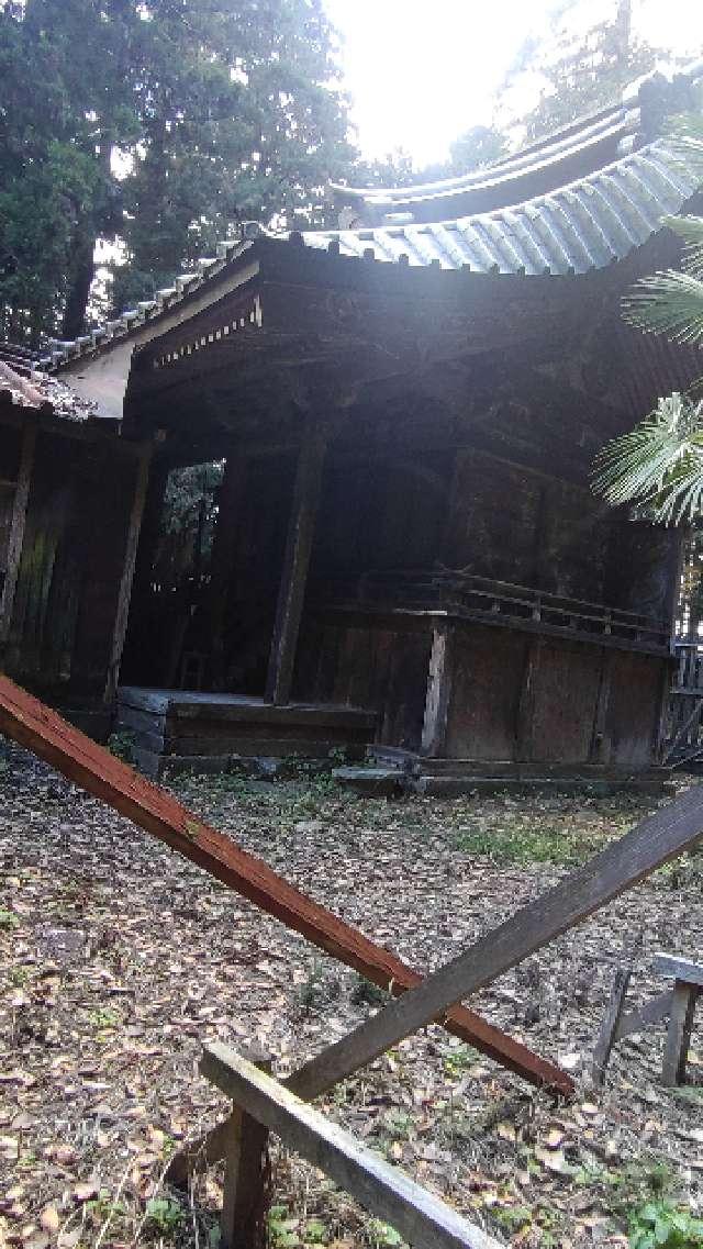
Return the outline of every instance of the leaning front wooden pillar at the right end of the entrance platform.
[[[293,664],[326,450],[327,431],[320,421],[310,417],[303,431],[297,462],[266,679],[266,698],[276,706],[282,706],[291,698]]]

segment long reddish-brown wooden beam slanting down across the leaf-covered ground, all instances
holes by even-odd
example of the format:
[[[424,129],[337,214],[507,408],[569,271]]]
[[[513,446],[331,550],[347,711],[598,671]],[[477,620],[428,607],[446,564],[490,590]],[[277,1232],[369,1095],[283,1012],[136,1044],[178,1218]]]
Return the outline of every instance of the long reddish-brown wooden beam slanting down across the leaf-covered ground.
[[[395,994],[422,983],[395,954],[300,893],[262,859],[240,849],[5,676],[0,676],[0,732],[366,979]],[[473,1010],[457,1008],[446,1027],[532,1084],[567,1097],[573,1093],[566,1072]]]

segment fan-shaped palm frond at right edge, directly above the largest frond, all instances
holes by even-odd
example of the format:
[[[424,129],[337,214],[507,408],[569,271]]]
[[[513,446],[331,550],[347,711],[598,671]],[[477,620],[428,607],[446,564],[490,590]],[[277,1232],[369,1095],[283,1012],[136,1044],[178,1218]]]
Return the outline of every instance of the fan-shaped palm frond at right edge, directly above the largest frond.
[[[673,269],[644,277],[623,299],[623,316],[672,342],[703,342],[703,281]]]

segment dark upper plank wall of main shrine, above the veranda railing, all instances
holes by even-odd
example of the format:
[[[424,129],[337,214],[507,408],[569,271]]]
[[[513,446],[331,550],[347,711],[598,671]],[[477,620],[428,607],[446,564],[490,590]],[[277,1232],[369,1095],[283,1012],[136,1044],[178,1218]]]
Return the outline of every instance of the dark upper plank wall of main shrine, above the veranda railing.
[[[455,568],[658,616],[669,545],[584,487],[469,451],[332,456],[311,577]]]

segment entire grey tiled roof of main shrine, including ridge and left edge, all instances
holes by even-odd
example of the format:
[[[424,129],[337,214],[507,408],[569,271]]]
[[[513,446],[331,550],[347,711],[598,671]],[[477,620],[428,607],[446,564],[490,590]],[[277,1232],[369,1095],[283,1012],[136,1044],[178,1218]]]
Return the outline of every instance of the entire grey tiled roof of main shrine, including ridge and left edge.
[[[703,62],[697,62],[674,76],[673,87],[681,81],[691,87],[702,77]],[[574,152],[588,151],[592,161],[599,154],[602,160],[603,150],[611,150],[608,145],[614,144],[612,151],[617,152],[623,150],[623,144],[642,141],[647,81],[637,86],[632,100],[574,122],[559,135],[509,157],[491,171],[416,187],[412,192],[396,189],[380,191],[378,195],[385,197],[385,202],[392,201],[397,206],[402,196],[408,200],[408,194],[416,201],[421,197],[432,200],[436,191],[437,202],[443,202],[447,190],[458,184],[462,194],[468,190],[472,195],[477,191],[483,194],[489,184],[493,190],[502,186],[501,195],[504,197],[506,177],[511,187],[519,185],[524,190],[534,185],[536,170],[546,165],[563,172],[569,167],[567,157]],[[584,274],[604,269],[642,246],[661,229],[662,217],[681,212],[701,185],[703,169],[694,167],[692,160],[682,164],[674,142],[656,139],[544,194],[440,222],[386,220],[353,230],[278,235],[253,222],[245,239],[219,244],[216,256],[201,260],[196,271],[177,277],[171,287],[157,291],[154,300],[139,304],[75,341],[50,341],[40,365],[54,371],[77,357],[92,355],[114,340],[129,340],[192,292],[206,290],[222,270],[250,249],[256,249],[260,237],[270,249],[300,246],[302,242],[313,251],[326,250],[346,259],[396,262],[416,269],[435,266],[529,276]]]

